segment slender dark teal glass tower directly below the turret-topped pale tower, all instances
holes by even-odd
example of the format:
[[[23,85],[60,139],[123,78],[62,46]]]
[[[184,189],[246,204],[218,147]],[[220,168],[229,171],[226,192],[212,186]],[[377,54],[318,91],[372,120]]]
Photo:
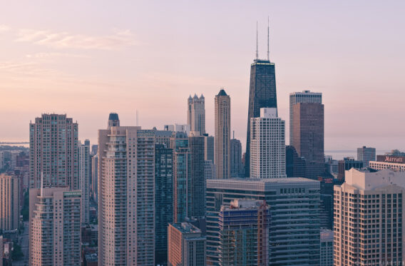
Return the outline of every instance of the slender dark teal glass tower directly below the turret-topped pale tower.
[[[188,178],[188,218],[205,215],[204,137],[193,132],[188,138],[190,175]]]

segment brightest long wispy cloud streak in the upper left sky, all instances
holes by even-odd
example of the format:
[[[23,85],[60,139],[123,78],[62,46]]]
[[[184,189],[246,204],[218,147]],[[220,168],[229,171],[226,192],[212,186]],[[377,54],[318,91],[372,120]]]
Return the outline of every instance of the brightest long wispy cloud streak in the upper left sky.
[[[115,50],[137,44],[129,30],[116,30],[105,36],[88,36],[71,34],[65,31],[39,31],[35,29],[20,29],[17,32],[19,42],[27,42],[51,48],[78,48]]]

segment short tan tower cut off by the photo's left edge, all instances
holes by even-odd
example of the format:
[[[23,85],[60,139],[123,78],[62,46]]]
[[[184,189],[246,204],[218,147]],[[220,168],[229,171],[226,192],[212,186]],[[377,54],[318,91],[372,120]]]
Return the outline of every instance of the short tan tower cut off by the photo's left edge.
[[[20,179],[0,174],[0,231],[19,229]]]

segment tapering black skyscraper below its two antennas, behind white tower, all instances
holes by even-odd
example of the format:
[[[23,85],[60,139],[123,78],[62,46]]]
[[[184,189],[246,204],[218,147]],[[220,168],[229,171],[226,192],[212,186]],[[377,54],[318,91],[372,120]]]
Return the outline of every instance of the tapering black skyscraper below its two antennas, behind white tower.
[[[250,177],[250,118],[260,117],[260,108],[277,108],[275,63],[256,59],[250,67],[249,113],[247,114],[247,140],[245,176]]]

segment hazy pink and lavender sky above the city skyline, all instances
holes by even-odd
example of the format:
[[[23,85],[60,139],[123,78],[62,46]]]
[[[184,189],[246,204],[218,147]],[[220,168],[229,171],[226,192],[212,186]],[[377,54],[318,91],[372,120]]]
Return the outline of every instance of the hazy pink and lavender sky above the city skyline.
[[[67,113],[97,141],[108,113],[143,128],[185,123],[187,98],[225,87],[245,145],[250,63],[276,65],[279,115],[288,97],[323,93],[325,149],[405,150],[405,1],[3,1],[0,140],[28,140],[29,121]],[[288,142],[288,130],[286,131]],[[245,148],[244,148],[245,149]]]

